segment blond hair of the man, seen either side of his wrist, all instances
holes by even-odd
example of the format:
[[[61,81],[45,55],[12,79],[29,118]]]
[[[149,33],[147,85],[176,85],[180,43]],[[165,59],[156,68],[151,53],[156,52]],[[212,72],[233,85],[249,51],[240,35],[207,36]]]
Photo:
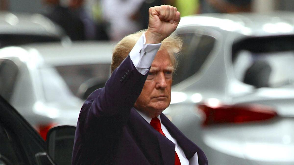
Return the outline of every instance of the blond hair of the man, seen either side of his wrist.
[[[138,31],[136,33],[125,36],[119,41],[112,53],[111,73],[115,70],[121,62],[128,56],[140,36],[146,32],[147,29]],[[159,50],[165,49],[171,57],[174,71],[178,65],[176,57],[182,49],[182,40],[176,35],[170,35],[161,42]]]

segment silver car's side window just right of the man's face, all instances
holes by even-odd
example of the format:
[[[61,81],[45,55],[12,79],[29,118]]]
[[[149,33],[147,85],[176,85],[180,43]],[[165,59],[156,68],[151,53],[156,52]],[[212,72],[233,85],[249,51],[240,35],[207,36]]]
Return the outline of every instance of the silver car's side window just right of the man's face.
[[[197,73],[215,44],[215,38],[208,35],[182,33],[178,36],[183,40],[183,47],[177,58],[179,64],[173,75],[173,85]]]

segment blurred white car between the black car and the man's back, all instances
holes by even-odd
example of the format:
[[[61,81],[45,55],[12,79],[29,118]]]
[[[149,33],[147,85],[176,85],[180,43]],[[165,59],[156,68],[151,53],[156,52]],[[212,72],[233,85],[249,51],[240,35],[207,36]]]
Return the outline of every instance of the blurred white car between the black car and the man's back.
[[[74,88],[93,77],[105,83],[112,47],[111,43],[80,42],[2,48],[0,95],[42,137],[53,125],[76,125],[83,101],[72,94],[59,72],[66,73],[65,80]]]

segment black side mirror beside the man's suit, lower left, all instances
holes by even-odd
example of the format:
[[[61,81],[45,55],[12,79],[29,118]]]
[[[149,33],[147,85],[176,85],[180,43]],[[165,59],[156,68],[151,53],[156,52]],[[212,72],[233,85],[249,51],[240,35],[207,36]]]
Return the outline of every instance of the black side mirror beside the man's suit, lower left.
[[[53,127],[47,134],[47,151],[56,164],[71,165],[76,127],[60,125]]]

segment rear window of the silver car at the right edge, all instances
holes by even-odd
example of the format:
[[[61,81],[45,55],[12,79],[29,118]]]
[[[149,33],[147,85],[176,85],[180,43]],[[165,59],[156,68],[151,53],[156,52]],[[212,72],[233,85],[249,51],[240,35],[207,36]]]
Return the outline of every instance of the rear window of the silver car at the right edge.
[[[293,86],[292,40],[293,36],[253,38],[233,46],[235,76],[255,87]]]

